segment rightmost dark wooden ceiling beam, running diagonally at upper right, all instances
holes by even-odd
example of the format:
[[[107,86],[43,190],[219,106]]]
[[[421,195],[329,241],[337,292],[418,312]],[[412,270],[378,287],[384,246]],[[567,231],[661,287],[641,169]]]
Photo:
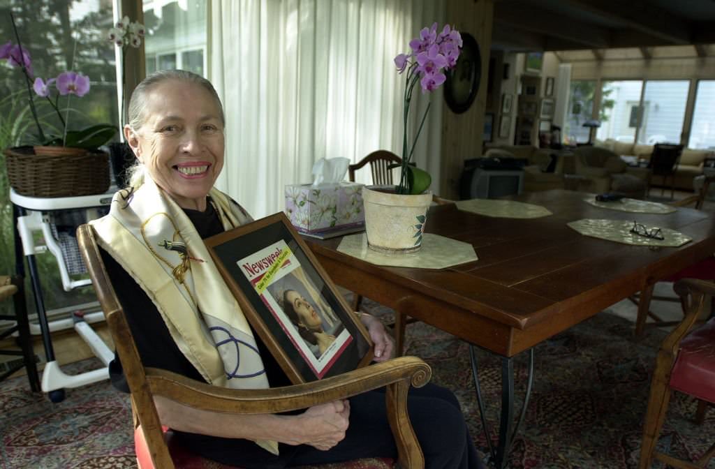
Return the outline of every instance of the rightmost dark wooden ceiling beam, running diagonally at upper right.
[[[667,44],[691,44],[689,24],[647,0],[571,0],[584,11],[612,21],[621,21],[628,28],[666,41]]]

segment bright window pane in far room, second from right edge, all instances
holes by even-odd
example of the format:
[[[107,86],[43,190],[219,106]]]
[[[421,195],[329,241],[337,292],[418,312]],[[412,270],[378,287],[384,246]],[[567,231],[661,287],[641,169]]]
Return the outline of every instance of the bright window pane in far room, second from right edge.
[[[689,87],[688,80],[646,82],[638,143],[680,143]]]

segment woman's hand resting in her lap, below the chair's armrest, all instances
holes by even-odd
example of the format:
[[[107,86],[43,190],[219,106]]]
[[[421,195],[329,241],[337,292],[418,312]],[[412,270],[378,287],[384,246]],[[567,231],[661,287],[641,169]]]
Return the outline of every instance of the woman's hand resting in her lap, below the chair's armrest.
[[[350,401],[314,405],[298,416],[301,440],[290,444],[310,445],[318,450],[329,450],[345,438],[350,421]]]

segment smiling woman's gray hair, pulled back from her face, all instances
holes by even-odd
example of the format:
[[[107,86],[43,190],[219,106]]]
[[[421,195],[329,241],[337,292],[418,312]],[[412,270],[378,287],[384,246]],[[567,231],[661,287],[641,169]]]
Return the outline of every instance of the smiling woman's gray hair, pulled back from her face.
[[[216,105],[219,108],[219,113],[221,115],[221,123],[226,124],[226,119],[223,112],[223,104],[221,104],[221,99],[219,94],[216,92],[214,86],[201,75],[197,75],[192,71],[187,70],[159,70],[154,71],[154,73],[147,76],[140,82],[134,92],[132,92],[132,99],[129,100],[129,127],[132,128],[134,132],[137,132],[142,125],[144,125],[144,120],[146,119],[145,110],[147,107],[147,95],[152,91],[154,87],[163,82],[169,80],[177,80],[179,82],[198,84],[204,89],[206,89],[212,97],[216,100]],[[129,177],[129,185],[132,187],[139,187],[144,182],[144,166],[139,163],[134,164],[133,167],[127,169],[127,172],[131,174]]]

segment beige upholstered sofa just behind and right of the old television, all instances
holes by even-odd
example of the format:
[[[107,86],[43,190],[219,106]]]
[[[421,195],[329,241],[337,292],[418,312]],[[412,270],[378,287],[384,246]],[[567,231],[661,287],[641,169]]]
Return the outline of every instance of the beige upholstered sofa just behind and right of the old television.
[[[506,152],[506,153],[503,153]],[[531,145],[498,145],[488,147],[485,157],[500,157],[508,154],[524,159],[524,191],[535,192],[549,189],[563,189],[563,158],[550,149],[539,149]],[[552,164],[552,154],[555,164]]]

